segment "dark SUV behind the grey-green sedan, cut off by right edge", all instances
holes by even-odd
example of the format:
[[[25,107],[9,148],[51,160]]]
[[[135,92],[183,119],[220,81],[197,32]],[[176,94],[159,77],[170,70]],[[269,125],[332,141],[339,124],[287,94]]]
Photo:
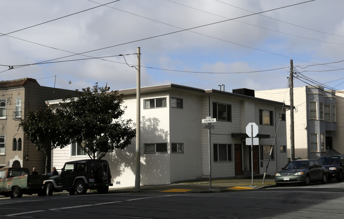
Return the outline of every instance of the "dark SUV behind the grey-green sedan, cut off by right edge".
[[[337,182],[343,181],[344,155],[320,157],[319,162],[329,171],[327,180],[336,178]]]

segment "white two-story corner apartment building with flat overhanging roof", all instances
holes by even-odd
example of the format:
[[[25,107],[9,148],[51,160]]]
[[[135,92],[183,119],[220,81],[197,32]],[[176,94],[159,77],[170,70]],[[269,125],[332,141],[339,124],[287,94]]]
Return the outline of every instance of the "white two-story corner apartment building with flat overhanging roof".
[[[119,90],[126,106],[123,119],[136,121],[136,89]],[[61,100],[47,101],[57,107]],[[204,90],[175,84],[141,88],[141,184],[170,184],[179,180],[209,177],[208,129],[202,119],[216,118],[210,131],[211,177],[229,177],[245,172],[264,173],[270,148],[273,153],[267,174],[273,174],[287,163],[286,109],[282,102],[254,97],[254,91],[234,92]],[[259,145],[246,145],[246,126],[259,127]],[[136,127],[133,122],[133,127]],[[135,185],[136,139],[124,150],[109,152],[114,187]],[[54,149],[52,165],[85,159],[75,145]],[[251,161],[253,160],[253,167]]]

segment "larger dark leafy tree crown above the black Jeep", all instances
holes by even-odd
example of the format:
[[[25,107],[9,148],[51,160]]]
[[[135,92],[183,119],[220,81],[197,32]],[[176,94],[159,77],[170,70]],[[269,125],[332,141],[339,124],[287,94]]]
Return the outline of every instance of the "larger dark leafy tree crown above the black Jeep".
[[[123,120],[126,107],[118,91],[106,92],[98,87],[77,90],[76,98],[65,98],[56,109],[61,129],[71,142],[77,143],[91,159],[101,159],[109,150],[124,149],[136,131],[131,119]]]

